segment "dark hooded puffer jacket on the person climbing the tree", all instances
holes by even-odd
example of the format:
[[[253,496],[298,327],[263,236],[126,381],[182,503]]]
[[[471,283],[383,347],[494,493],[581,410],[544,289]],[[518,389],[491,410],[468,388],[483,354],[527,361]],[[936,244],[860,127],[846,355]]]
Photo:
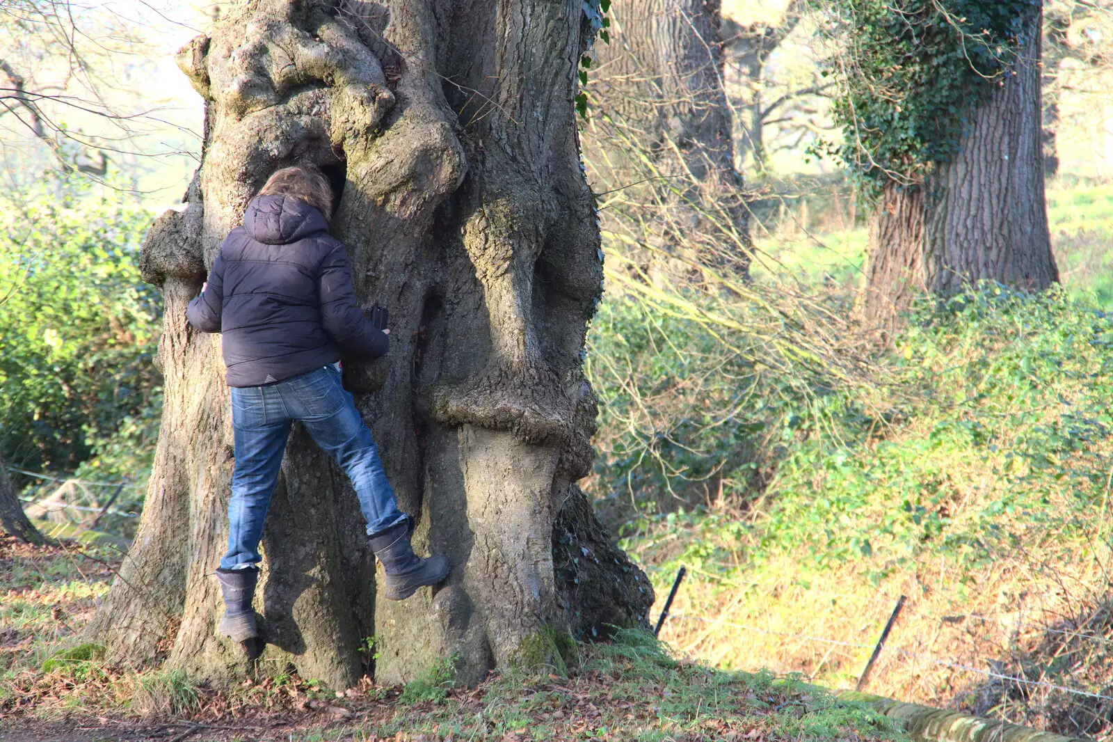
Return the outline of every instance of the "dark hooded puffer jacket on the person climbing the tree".
[[[258,196],[228,234],[208,285],[186,316],[223,332],[229,387],[258,387],[335,363],[386,353],[387,335],[364,319],[347,251],[304,201]]]

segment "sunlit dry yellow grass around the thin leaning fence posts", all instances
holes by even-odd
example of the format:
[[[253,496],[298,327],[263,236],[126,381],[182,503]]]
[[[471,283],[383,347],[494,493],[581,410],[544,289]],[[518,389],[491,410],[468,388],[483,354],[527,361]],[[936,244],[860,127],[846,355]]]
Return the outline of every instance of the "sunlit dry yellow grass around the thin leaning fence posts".
[[[953,705],[986,682],[992,663],[1038,643],[1047,627],[1074,619],[1103,594],[1109,549],[1103,551],[1102,558],[1061,563],[1051,575],[1021,559],[977,572],[924,563],[876,586],[854,570],[804,579],[790,558],[762,566],[745,582],[697,573],[661,637],[717,666],[761,665],[853,687],[897,597],[907,595],[868,690]]]

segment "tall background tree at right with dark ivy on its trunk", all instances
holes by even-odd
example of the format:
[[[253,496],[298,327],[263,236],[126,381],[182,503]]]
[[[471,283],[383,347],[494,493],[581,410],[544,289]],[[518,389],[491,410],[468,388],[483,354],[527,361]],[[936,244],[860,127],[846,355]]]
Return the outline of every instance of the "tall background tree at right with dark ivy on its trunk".
[[[840,61],[855,69],[837,105],[844,154],[880,189],[866,316],[888,322],[925,290],[1057,282],[1043,183],[1041,2],[850,3],[861,14]]]

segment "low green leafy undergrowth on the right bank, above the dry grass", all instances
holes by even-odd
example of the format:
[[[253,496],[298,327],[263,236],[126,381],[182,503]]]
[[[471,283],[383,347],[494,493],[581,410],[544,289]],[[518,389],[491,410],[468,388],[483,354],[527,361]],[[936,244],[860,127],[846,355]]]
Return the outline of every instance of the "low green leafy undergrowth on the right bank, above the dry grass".
[[[628,331],[626,341],[636,336]],[[653,364],[662,353],[668,360],[644,345],[633,357],[631,368],[648,370],[628,381],[634,394],[661,383],[664,371]],[[684,358],[673,358],[669,373],[710,372],[707,359]],[[876,396],[843,385],[794,398],[759,379],[752,407],[769,421],[752,433],[745,418],[686,427],[662,413],[670,450],[677,460],[691,457],[688,470],[722,460],[731,461],[725,471],[740,469],[727,457],[738,447],[757,450],[747,435],[768,440],[776,463],[751,517],[643,509],[627,526],[639,534],[627,546],[646,558],[683,530],[662,573],[677,562],[733,572],[745,545],[747,569],[778,558],[820,572],[855,563],[876,583],[925,558],[973,572],[1038,534],[1082,538],[1094,514],[1109,510],[1113,320],[1092,299],[985,285],[925,300],[878,362],[886,384]],[[611,429],[614,417],[602,421],[608,452],[632,447],[636,431]],[[651,478],[624,466],[648,491]],[[738,484],[728,477],[728,492]]]

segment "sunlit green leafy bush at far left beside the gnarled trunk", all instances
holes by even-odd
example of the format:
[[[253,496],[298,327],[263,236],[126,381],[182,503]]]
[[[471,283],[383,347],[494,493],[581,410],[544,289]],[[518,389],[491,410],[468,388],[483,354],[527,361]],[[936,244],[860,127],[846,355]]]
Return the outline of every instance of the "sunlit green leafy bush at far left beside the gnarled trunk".
[[[158,426],[159,299],[137,265],[149,215],[81,182],[3,204],[0,453],[72,470],[149,450]],[[115,439],[115,442],[114,442]]]

